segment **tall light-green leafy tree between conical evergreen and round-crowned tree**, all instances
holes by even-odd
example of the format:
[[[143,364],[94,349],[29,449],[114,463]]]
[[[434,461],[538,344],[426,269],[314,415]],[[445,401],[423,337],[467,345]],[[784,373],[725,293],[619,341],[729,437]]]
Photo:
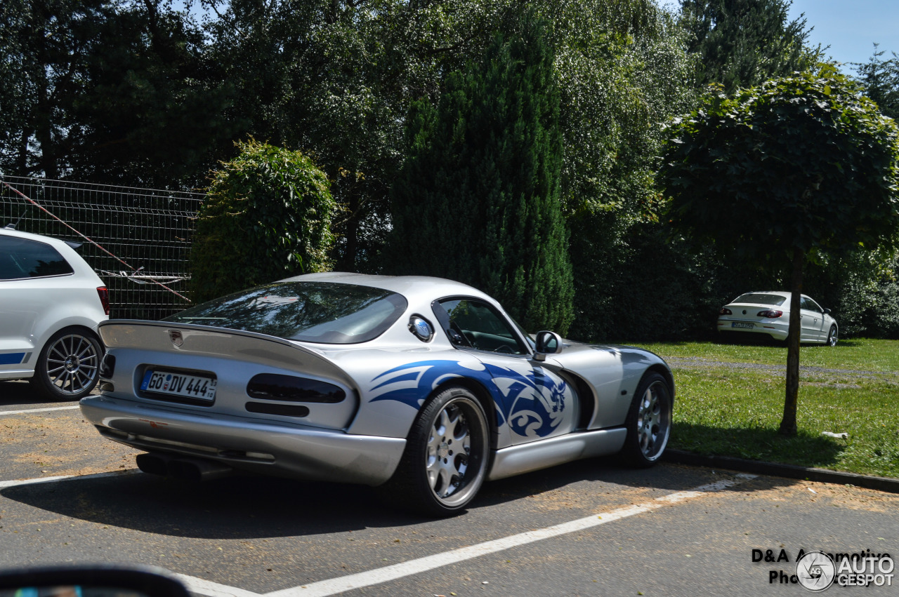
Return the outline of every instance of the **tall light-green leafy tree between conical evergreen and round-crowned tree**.
[[[562,198],[576,313],[569,333],[589,340],[645,338],[645,319],[629,318],[620,300],[633,297],[635,278],[641,286],[654,280],[685,290],[675,273],[682,268],[656,267],[681,255],[655,239],[654,172],[663,144],[659,123],[695,104],[694,58],[673,15],[652,1],[535,4],[551,23],[547,35],[561,96]],[[671,254],[651,259],[648,245]]]

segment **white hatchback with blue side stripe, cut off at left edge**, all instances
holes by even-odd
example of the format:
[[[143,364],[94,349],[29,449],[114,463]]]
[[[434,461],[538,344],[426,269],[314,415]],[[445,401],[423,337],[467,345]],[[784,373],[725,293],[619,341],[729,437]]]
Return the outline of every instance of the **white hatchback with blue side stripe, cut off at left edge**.
[[[50,399],[86,396],[109,312],[106,285],[67,241],[0,229],[0,380],[30,379]]]

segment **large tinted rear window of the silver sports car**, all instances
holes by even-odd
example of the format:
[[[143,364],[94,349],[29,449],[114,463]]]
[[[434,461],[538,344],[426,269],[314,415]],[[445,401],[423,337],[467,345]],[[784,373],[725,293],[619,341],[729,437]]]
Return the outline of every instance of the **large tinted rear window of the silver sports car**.
[[[202,303],[165,318],[322,344],[378,338],[405,312],[405,297],[381,288],[280,282]]]

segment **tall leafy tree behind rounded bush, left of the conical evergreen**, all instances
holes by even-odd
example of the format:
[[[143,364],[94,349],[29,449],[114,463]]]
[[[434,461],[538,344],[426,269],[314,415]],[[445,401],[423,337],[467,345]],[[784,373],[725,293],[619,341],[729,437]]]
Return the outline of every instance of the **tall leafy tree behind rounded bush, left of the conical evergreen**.
[[[375,268],[411,102],[479,56],[513,0],[231,0],[209,23],[246,135],[302,149],[333,180],[337,266]]]

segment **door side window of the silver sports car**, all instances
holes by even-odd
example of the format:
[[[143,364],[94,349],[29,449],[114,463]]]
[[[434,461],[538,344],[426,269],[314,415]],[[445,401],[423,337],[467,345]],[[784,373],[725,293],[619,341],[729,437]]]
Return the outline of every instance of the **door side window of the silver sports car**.
[[[528,350],[508,321],[489,304],[476,299],[445,299],[434,305],[449,340],[458,347],[507,355],[527,355]]]

